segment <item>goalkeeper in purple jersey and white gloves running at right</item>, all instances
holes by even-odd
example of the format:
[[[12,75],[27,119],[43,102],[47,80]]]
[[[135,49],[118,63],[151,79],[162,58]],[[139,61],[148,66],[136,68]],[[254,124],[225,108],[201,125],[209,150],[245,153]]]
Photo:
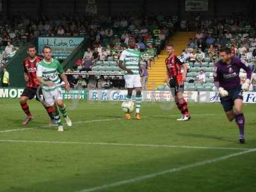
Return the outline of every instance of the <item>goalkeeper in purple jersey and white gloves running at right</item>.
[[[239,58],[232,57],[229,48],[220,50],[221,60],[215,63],[214,83],[220,92],[221,104],[227,115],[228,120],[236,120],[239,127],[239,141],[245,143],[244,138],[244,114],[243,107],[243,90],[248,91],[252,77],[252,69],[248,64],[243,63]],[[239,72],[243,68],[247,75],[243,85],[240,83]],[[235,112],[233,110],[235,108]]]

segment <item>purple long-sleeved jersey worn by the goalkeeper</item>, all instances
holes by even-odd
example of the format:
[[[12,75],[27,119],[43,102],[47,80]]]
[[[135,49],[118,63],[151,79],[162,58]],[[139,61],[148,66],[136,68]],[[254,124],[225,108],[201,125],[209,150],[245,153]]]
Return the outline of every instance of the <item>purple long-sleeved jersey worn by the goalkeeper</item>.
[[[227,65],[222,61],[216,62],[213,74],[215,84],[218,82],[219,86],[226,90],[236,88],[236,86],[241,84],[239,77],[241,68],[246,71],[247,79],[251,79],[252,69],[239,58],[232,58],[230,65]]]

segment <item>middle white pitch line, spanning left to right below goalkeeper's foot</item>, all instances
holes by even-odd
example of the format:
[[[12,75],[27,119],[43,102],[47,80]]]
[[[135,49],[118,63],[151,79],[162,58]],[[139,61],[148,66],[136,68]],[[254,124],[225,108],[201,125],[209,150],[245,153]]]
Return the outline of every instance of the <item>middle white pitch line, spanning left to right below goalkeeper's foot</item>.
[[[166,147],[166,148],[201,148],[201,149],[221,149],[221,150],[252,150],[256,148],[234,148],[234,147],[200,147],[189,145],[157,145],[157,144],[134,144],[134,143],[100,143],[100,142],[76,142],[76,141],[33,141],[33,140],[0,140],[0,142],[10,143],[59,143],[59,144],[81,144],[81,145],[111,145],[125,147]]]

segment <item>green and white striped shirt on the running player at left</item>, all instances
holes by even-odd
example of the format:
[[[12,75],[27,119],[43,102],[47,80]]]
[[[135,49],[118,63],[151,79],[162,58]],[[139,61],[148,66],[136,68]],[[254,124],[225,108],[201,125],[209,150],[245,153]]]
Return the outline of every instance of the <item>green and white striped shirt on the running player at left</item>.
[[[59,74],[64,72],[60,62],[58,60],[52,59],[51,63],[42,60],[37,65],[36,76],[42,77],[44,81],[52,81],[55,83],[55,86],[45,86],[43,85],[42,88],[45,92],[51,92],[56,90],[56,88],[60,88],[60,77]]]

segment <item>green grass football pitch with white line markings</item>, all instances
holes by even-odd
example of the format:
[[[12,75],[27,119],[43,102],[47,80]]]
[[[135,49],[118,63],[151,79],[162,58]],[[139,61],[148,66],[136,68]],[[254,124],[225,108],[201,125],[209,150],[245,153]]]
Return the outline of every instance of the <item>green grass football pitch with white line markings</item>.
[[[0,100],[0,191],[255,191],[256,105],[244,105],[246,144],[219,103],[143,103],[140,121],[120,102],[65,101],[73,125],[48,127],[45,109],[22,125],[19,100]],[[174,107],[174,108],[173,108]]]

